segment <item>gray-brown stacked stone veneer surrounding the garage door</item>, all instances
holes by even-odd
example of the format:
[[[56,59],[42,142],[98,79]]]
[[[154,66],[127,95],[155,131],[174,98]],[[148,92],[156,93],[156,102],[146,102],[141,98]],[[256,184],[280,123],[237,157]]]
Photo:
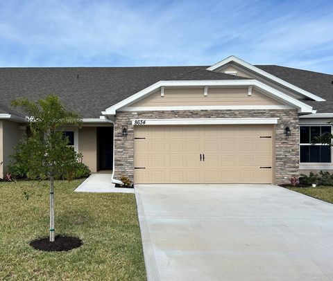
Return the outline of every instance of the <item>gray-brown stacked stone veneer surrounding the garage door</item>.
[[[114,120],[114,179],[134,178],[134,126],[130,119],[164,118],[279,118],[275,125],[275,183],[289,183],[299,175],[298,112],[280,110],[196,110],[196,111],[119,111]],[[128,126],[128,136],[122,136],[122,126]],[[291,136],[286,136],[290,127]]]

